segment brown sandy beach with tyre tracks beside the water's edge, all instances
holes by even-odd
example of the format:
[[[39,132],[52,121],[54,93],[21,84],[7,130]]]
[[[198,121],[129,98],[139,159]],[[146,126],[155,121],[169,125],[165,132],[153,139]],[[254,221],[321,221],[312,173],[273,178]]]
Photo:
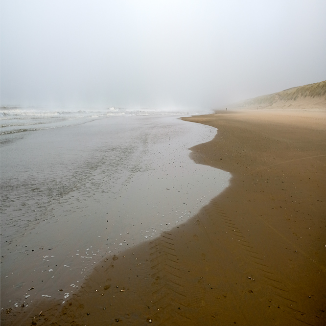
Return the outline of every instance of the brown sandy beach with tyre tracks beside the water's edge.
[[[231,185],[103,260],[67,303],[2,312],[2,325],[325,325],[325,110],[184,120],[218,128],[191,156],[231,172]]]

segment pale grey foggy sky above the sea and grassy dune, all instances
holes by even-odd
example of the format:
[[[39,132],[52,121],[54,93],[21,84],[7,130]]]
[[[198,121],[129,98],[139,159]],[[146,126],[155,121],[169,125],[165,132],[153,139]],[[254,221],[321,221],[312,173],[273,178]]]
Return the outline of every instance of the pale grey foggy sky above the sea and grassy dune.
[[[326,79],[326,0],[1,0],[1,105],[218,108]]]

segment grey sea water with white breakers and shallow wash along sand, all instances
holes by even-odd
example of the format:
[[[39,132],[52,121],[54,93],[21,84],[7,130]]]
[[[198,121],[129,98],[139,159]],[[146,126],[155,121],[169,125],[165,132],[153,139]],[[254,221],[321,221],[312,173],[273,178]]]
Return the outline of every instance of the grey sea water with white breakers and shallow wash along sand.
[[[231,175],[193,163],[182,113],[1,108],[1,309],[62,302],[104,257],[193,216]]]

